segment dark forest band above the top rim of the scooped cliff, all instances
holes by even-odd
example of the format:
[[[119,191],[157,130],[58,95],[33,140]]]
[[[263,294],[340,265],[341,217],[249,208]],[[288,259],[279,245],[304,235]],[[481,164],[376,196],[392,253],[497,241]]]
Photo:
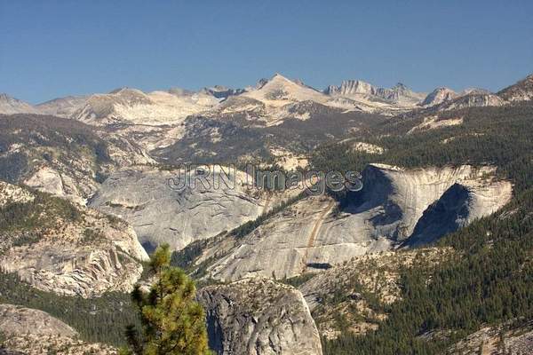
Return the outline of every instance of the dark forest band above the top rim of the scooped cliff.
[[[311,163],[324,171],[357,171],[369,162],[406,168],[493,164],[518,191],[533,185],[533,106],[474,107],[440,117],[463,117],[464,123],[407,134],[422,117],[394,118],[378,126],[372,136],[354,137],[384,147],[385,154],[350,152],[346,144],[330,143],[315,150]],[[445,143],[446,139],[451,140]]]

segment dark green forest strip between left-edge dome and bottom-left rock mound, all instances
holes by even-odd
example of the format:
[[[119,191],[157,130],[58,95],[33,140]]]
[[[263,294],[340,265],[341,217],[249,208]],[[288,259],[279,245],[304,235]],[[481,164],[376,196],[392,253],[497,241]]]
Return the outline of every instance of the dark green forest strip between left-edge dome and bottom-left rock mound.
[[[93,299],[59,296],[32,288],[16,275],[2,272],[0,303],[20,304],[50,313],[75,327],[84,340],[92,343],[122,345],[123,328],[139,324],[129,295],[110,293]]]

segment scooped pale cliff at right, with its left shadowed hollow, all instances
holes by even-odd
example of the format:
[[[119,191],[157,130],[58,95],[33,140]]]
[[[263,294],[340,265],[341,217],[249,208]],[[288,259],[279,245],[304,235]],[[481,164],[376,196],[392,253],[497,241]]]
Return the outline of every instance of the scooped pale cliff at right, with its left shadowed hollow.
[[[349,230],[372,240],[385,237],[388,241],[405,241],[424,211],[456,184],[469,194],[470,222],[495,212],[511,199],[512,185],[498,181],[495,173],[491,167],[470,165],[415,170],[370,165],[362,172],[362,191],[337,220],[324,224],[323,233],[333,236]]]

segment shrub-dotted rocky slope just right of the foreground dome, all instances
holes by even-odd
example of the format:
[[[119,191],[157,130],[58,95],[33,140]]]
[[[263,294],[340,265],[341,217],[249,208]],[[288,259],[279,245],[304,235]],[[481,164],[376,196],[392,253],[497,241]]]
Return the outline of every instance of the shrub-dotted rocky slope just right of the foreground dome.
[[[324,272],[307,274],[298,286],[306,298],[321,335],[337,338],[341,332],[362,335],[387,317],[382,305],[402,295],[400,273],[416,266],[431,269],[453,256],[451,248],[388,251],[339,264]],[[343,319],[339,321],[338,319]]]

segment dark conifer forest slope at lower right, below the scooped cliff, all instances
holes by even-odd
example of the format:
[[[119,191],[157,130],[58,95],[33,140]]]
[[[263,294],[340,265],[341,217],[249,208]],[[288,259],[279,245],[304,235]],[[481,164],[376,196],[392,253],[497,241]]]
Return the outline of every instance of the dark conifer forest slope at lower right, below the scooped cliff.
[[[324,341],[325,354],[436,354],[485,324],[533,318],[533,190],[440,241],[460,253],[427,274],[402,271],[402,301],[378,331]],[[426,285],[426,280],[431,282]],[[442,341],[418,335],[451,331]]]

